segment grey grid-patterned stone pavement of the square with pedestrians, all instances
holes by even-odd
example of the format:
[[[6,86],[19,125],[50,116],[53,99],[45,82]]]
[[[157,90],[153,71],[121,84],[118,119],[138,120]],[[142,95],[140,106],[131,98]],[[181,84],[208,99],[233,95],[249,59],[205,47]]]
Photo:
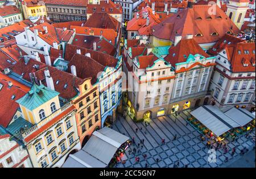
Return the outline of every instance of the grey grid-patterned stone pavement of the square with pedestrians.
[[[214,168],[222,167],[230,163],[232,160],[236,161],[240,159],[240,151],[243,147],[251,150],[255,147],[255,129],[251,132],[247,138],[245,135],[239,137],[238,140],[230,141],[228,139],[223,140],[228,147],[228,152],[225,153],[224,149],[220,147],[216,151],[216,163],[209,163],[208,157],[212,156],[208,154],[209,148],[206,147],[207,140],[201,141],[200,133],[195,128],[187,124],[187,119],[191,110],[182,111],[175,119],[175,115],[161,116],[159,118],[147,120],[149,125],[145,126],[145,123],[134,123],[129,116],[127,119],[119,116],[113,124],[113,129],[121,132],[122,134],[129,136],[131,139],[134,137],[135,144],[132,144],[125,152],[125,156],[122,160],[126,162],[118,163],[117,168],[144,168],[147,163],[147,167],[153,168],[172,168],[179,162],[179,166],[188,168]],[[136,128],[138,131],[136,132]],[[176,136],[176,139],[175,139]],[[253,139],[254,137],[254,139]],[[144,139],[143,147],[138,147],[140,140]],[[162,144],[162,139],[165,143]],[[175,140],[174,140],[175,139]],[[216,147],[216,143],[212,143],[213,149]],[[232,148],[236,148],[235,154],[232,156]],[[131,152],[129,150],[137,149],[137,152]],[[138,148],[141,152],[138,152]],[[147,157],[144,159],[143,155]],[[137,163],[135,157],[139,157],[140,161]],[[225,161],[228,157],[228,161]],[[255,156],[254,156],[255,157]],[[159,159],[156,162],[156,159]]]

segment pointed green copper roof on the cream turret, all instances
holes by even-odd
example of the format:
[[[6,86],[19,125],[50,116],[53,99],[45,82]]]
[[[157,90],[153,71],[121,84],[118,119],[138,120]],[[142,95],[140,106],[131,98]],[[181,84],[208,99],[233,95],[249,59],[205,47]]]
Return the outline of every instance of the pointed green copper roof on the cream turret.
[[[29,110],[34,110],[59,94],[56,91],[46,88],[44,85],[38,86],[34,83],[31,90],[16,102]]]

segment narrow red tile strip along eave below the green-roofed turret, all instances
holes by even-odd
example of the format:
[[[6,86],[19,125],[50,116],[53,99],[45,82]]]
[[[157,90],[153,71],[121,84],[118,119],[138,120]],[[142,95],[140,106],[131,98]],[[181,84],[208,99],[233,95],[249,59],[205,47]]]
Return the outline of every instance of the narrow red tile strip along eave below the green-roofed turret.
[[[47,122],[46,124],[44,124],[42,127],[38,128],[38,130],[32,132],[32,134],[28,135],[24,141],[26,143],[29,143],[30,141],[32,141],[33,139],[35,139],[37,136],[39,136],[40,134],[42,134],[43,132],[45,132],[48,128],[52,127],[55,123],[59,122],[59,120],[63,119],[64,116],[68,115],[69,113],[71,113],[72,110],[75,110],[76,107],[74,105],[72,105],[71,107],[69,107],[68,109],[66,109],[65,111],[63,111],[63,113],[57,115],[55,118],[49,120],[49,122]]]

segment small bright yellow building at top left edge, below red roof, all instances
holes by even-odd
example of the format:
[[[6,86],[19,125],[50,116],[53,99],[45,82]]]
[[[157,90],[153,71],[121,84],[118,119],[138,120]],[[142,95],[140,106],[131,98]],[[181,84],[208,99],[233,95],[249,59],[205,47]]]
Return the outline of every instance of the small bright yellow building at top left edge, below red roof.
[[[33,16],[47,16],[46,5],[43,0],[38,0],[37,3],[31,0],[24,0],[22,2],[22,11],[25,19]]]

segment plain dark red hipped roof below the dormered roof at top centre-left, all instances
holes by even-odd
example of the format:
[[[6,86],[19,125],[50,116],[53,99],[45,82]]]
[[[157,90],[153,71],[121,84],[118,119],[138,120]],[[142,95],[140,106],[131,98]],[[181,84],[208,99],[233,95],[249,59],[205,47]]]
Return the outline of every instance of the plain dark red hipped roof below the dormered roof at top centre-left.
[[[93,13],[85,22],[84,27],[110,28],[118,32],[120,23],[108,13]]]

